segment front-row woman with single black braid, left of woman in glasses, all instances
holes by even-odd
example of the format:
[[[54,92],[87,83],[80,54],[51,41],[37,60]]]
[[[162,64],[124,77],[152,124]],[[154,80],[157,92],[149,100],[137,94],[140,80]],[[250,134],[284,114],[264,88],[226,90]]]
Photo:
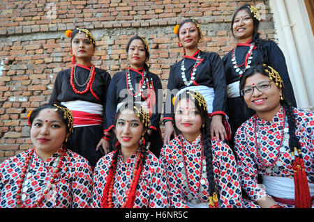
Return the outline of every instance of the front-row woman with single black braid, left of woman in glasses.
[[[179,136],[163,147],[170,207],[242,207],[237,163],[229,146],[211,139],[207,102],[193,90],[174,100]]]

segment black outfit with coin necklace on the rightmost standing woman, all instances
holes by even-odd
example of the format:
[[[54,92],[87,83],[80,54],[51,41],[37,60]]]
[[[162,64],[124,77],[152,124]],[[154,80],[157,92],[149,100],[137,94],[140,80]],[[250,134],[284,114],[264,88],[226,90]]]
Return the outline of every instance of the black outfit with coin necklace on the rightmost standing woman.
[[[265,40],[263,47],[267,53],[263,57],[264,63],[279,72],[281,79],[283,79],[288,100],[292,106],[297,107],[283,52],[272,40]],[[255,113],[252,110],[248,110],[247,113],[244,112],[246,104],[241,100],[239,86],[241,74],[251,66],[258,65],[261,56],[260,50],[253,44],[252,40],[249,40],[246,43],[237,43],[237,46],[223,57],[227,82],[227,116],[230,118],[232,135],[237,132],[243,122]]]

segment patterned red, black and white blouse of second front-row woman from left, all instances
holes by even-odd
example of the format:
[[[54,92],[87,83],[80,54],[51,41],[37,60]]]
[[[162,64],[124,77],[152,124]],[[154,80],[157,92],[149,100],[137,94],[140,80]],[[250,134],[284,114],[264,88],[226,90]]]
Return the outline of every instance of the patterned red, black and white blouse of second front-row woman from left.
[[[94,171],[94,193],[91,207],[99,208],[107,181],[112,154],[102,157]],[[118,157],[117,172],[114,176],[112,203],[114,208],[120,208],[126,200],[126,192],[133,179],[136,154],[131,155],[126,162]],[[134,208],[165,208],[167,207],[167,181],[163,164],[149,151],[145,158],[145,165],[137,184]]]

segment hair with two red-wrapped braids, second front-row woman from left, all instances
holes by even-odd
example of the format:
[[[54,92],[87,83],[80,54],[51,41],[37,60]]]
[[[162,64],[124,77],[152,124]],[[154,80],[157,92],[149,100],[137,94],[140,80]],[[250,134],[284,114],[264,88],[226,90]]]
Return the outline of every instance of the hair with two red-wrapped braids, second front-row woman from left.
[[[132,106],[130,104],[132,104]],[[120,106],[120,108],[117,112],[117,118],[114,122],[115,126],[117,126],[117,120],[119,119],[121,111],[124,111],[126,109],[136,113],[137,116],[140,118],[140,122],[144,122],[143,116],[138,115],[139,110],[142,111],[143,107],[140,104],[136,104],[136,103],[130,103],[130,104],[125,103],[125,104]],[[130,187],[130,192],[129,192],[129,196],[128,196],[127,203],[126,203],[127,208],[133,208],[133,206],[134,206],[137,184],[138,184],[138,181],[140,180],[140,175],[142,173],[142,169],[144,168],[145,159],[146,159],[147,154],[148,154],[147,143],[145,143],[145,141],[148,141],[148,138],[149,138],[149,136],[147,134],[148,128],[149,128],[149,125],[143,124],[143,130],[146,132],[145,132],[143,139],[142,139],[143,142],[139,143],[140,159],[137,162],[137,168],[135,169],[136,174],[133,175],[135,180],[134,180],[133,186]],[[110,192],[112,193],[112,190],[110,190],[110,187],[113,185],[112,183],[114,182],[114,175],[116,174],[116,171],[117,171],[118,157],[119,157],[119,154],[121,154],[121,144],[119,143],[116,135],[114,136],[114,143],[116,143],[116,145],[115,145],[114,150],[113,150],[112,163],[109,167],[109,172],[108,172],[106,184],[105,184],[105,188],[103,191],[103,197],[101,198],[101,203],[100,203],[102,208],[110,207],[110,203],[108,203],[108,197],[110,196]]]

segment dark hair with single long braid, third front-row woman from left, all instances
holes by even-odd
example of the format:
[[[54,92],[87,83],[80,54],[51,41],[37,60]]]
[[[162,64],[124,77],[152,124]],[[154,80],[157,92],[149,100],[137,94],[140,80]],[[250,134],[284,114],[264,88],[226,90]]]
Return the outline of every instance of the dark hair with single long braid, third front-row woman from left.
[[[210,135],[210,122],[208,118],[208,112],[207,108],[204,109],[204,105],[200,104],[197,100],[195,100],[195,92],[193,90],[186,90],[180,95],[178,95],[177,99],[174,102],[174,110],[176,110],[177,105],[179,104],[180,100],[194,100],[195,104],[195,109],[197,110],[198,113],[200,113],[200,116],[202,118],[202,128],[200,129],[201,131],[201,138],[202,138],[202,143],[203,143],[203,152],[206,160],[206,169],[207,169],[207,180],[209,182],[209,196],[212,197],[214,196],[214,193],[218,193],[216,189],[216,183],[214,180],[214,167],[213,167],[213,151],[211,149],[211,135]],[[201,95],[202,96],[202,95]],[[205,104],[206,105],[206,104]],[[173,118],[175,116],[175,112],[173,114]],[[174,121],[174,129],[176,129],[177,132],[180,133],[179,129],[177,128],[175,121]]]

